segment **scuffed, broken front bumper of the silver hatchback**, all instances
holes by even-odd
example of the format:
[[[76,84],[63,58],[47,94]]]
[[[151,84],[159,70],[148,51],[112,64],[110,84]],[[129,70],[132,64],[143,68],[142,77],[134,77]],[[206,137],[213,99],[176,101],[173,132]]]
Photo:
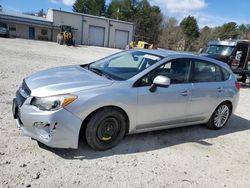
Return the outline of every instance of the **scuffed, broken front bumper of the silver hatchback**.
[[[14,118],[23,135],[29,136],[53,148],[77,148],[82,120],[62,108],[57,111],[41,111],[29,104],[21,106],[13,101]],[[16,116],[16,117],[15,117]]]

